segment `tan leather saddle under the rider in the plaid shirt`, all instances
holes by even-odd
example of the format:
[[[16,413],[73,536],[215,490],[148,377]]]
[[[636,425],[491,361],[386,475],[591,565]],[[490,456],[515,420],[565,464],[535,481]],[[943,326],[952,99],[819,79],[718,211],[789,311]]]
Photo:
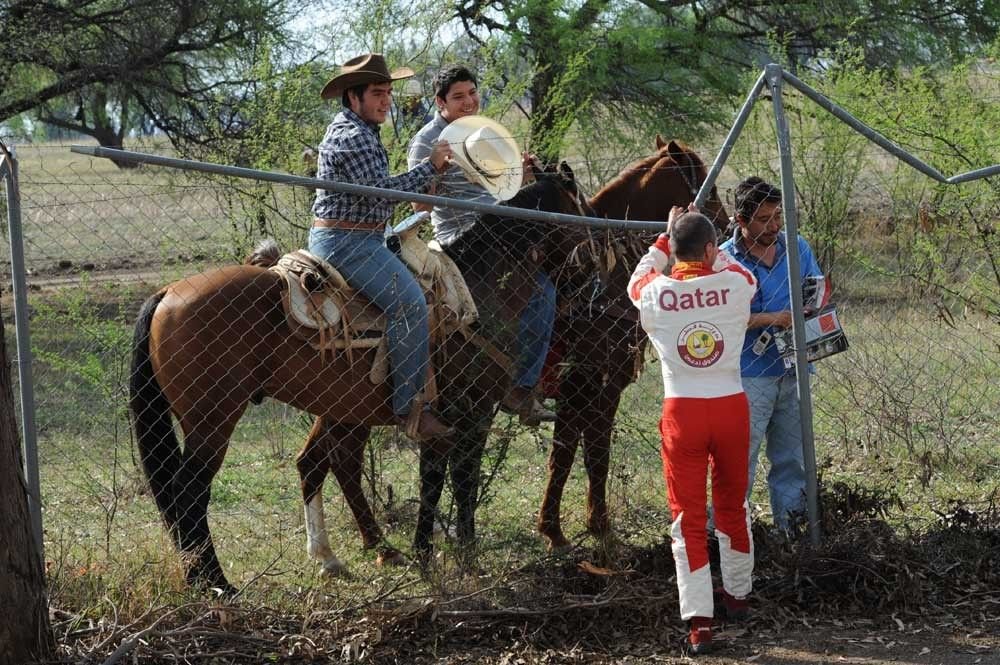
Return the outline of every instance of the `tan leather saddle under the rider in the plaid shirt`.
[[[416,233],[399,239],[400,257],[427,297],[431,348],[455,331],[475,340],[478,336],[470,326],[479,314],[458,267],[436,243],[428,246]],[[324,362],[327,353],[343,351],[353,363],[354,349],[375,348],[369,379],[375,384],[385,380],[388,321],[381,309],[351,287],[336,268],[306,250],[285,254],[270,270],[288,285],[282,303],[293,336],[319,351]]]

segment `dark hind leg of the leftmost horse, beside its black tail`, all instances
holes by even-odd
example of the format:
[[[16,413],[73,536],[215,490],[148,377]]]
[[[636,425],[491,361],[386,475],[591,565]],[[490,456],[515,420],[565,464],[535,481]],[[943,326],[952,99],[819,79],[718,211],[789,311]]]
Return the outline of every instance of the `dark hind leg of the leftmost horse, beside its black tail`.
[[[208,527],[208,504],[212,480],[222,466],[236,422],[243,414],[243,404],[235,409],[215,411],[196,420],[181,419],[184,452],[174,476],[174,503],[177,518],[177,542],[187,559],[187,581],[192,586],[221,589],[233,593],[222,572]]]

